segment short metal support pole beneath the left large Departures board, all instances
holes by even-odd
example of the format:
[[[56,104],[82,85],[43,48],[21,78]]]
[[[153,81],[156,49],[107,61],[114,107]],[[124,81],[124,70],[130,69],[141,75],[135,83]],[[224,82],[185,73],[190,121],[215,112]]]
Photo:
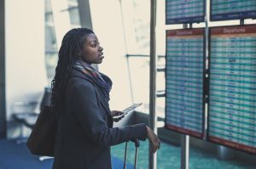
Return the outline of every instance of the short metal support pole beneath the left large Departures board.
[[[181,169],[189,169],[189,136],[181,135]]]

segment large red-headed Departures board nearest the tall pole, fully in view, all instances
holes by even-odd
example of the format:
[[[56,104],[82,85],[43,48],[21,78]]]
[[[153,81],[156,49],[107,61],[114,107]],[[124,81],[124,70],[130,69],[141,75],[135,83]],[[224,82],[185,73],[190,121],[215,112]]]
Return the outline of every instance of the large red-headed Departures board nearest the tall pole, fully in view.
[[[196,138],[204,124],[204,32],[166,31],[166,128]]]

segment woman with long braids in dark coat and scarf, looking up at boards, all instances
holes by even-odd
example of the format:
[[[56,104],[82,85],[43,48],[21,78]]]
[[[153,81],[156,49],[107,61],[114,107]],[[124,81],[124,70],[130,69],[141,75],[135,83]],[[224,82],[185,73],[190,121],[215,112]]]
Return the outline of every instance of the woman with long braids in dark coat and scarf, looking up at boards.
[[[108,76],[91,64],[101,64],[103,48],[93,31],[73,29],[63,37],[52,81],[51,105],[58,127],[54,169],[110,169],[110,146],[135,138],[148,140],[153,151],[160,140],[145,124],[113,128]]]

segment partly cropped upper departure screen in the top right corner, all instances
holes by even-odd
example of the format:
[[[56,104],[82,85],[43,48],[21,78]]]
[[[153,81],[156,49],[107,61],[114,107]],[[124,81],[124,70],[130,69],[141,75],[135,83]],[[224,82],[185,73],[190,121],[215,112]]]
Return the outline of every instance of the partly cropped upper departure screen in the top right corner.
[[[256,18],[255,0],[211,0],[211,20]]]

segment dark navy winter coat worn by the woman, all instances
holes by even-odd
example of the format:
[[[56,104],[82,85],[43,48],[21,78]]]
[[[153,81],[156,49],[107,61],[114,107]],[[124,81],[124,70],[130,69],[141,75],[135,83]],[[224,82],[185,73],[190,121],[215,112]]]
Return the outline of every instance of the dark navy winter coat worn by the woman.
[[[64,93],[53,169],[111,169],[110,146],[145,139],[144,124],[113,128],[101,87],[73,69]]]

